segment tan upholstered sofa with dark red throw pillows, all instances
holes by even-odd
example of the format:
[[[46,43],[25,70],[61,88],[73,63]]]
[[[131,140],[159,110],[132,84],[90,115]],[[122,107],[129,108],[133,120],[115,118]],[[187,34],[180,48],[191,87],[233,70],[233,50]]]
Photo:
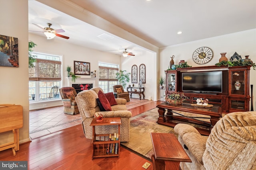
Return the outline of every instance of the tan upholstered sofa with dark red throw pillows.
[[[121,117],[120,125],[120,142],[128,142],[130,139],[130,117],[132,113],[126,108],[126,100],[122,98],[114,99],[117,105],[111,106],[111,111],[100,111],[100,106],[97,102],[99,91],[103,90],[99,87],[91,88],[79,92],[76,96],[76,103],[82,117],[82,128],[87,139],[92,139],[92,126],[90,123],[94,118],[94,114],[100,113],[104,117]],[[114,94],[112,94],[114,96]],[[116,133],[118,125],[102,125],[96,126],[96,134]]]

